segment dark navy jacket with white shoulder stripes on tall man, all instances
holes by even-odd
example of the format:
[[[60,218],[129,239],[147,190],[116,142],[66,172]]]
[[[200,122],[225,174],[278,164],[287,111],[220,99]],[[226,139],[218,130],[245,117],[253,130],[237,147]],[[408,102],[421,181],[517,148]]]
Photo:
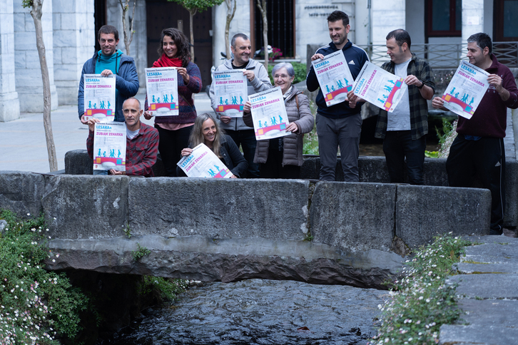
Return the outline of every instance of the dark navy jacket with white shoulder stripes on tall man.
[[[320,53],[323,56],[327,56],[335,51],[338,51],[338,49],[336,48],[335,43],[331,42],[327,46],[318,48],[315,54]],[[355,46],[349,40],[345,43],[342,51],[345,56],[345,61],[347,61],[347,66],[349,66],[349,70],[351,71],[352,78],[356,79],[365,62],[369,61],[369,56],[367,56],[367,53],[365,53],[362,48]],[[308,86],[308,91],[310,92],[313,92],[320,87],[313,65],[306,77],[306,86]],[[349,108],[349,102],[345,101],[328,107],[325,104],[324,95],[320,89],[318,90],[316,102],[318,105],[318,113],[326,118],[347,118],[347,116],[355,115],[360,113],[363,104],[357,103],[355,108]]]

